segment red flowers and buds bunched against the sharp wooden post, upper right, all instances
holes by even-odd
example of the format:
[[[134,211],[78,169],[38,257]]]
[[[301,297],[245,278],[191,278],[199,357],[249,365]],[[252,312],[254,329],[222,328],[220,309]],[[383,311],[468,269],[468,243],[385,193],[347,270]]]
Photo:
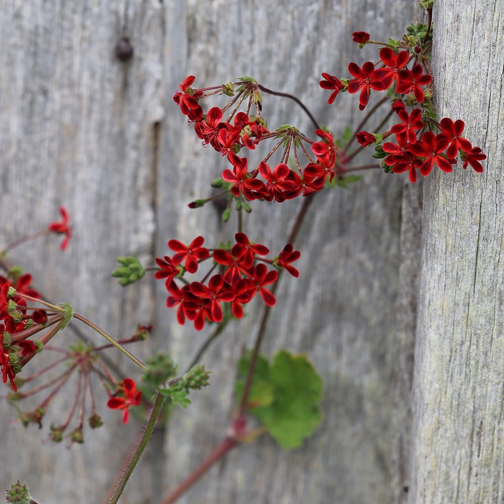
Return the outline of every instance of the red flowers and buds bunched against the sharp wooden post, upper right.
[[[418,30],[422,27],[418,26]],[[360,46],[369,42],[369,35],[356,32],[353,39]],[[338,79],[323,73],[324,80],[320,81],[323,89],[333,90],[328,103],[334,102],[340,91],[348,91],[359,95],[359,109],[363,110],[369,101],[371,90],[393,92],[392,110],[399,116],[400,122],[394,124],[390,131],[370,133],[360,131],[356,139],[362,146],[375,144],[375,158],[384,158],[382,167],[385,171],[402,173],[408,171],[411,182],[416,181],[417,170],[424,176],[428,175],[433,166],[438,166],[446,172],[452,171],[460,153],[463,168],[470,164],[477,172],[482,172],[480,161],[486,159],[479,147],[462,137],[464,122],[455,122],[445,117],[440,122],[435,120],[435,113],[431,103],[431,91],[424,91],[424,87],[432,82],[432,77],[424,70],[428,68],[426,53],[430,50],[420,45],[418,37],[407,37],[398,46],[383,47],[380,50],[380,61],[374,64],[366,61],[362,68],[351,62],[348,71],[351,79]],[[402,50],[399,50],[401,48]],[[407,65],[413,61],[411,69]],[[418,105],[418,106],[416,106]],[[406,110],[411,107],[411,111]],[[422,107],[422,108],[419,108]],[[432,129],[439,130],[435,135]],[[395,134],[396,142],[383,140]]]

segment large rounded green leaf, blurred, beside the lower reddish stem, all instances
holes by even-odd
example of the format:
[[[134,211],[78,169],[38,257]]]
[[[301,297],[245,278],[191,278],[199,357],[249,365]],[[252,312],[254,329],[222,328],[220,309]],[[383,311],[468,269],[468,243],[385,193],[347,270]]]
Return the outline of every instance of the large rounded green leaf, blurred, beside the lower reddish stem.
[[[248,365],[249,357],[238,362],[242,376]],[[243,387],[244,381],[236,385],[238,395]],[[271,364],[259,357],[248,409],[282,448],[298,448],[317,428],[322,420],[321,399],[322,379],[304,355],[280,350]]]

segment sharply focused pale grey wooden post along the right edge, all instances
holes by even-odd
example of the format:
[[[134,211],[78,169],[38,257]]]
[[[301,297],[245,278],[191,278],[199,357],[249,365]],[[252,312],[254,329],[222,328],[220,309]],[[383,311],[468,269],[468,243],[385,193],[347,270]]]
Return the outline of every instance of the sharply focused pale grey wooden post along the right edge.
[[[500,0],[436,2],[439,113],[488,159],[425,184],[412,503],[504,501],[503,16]]]

